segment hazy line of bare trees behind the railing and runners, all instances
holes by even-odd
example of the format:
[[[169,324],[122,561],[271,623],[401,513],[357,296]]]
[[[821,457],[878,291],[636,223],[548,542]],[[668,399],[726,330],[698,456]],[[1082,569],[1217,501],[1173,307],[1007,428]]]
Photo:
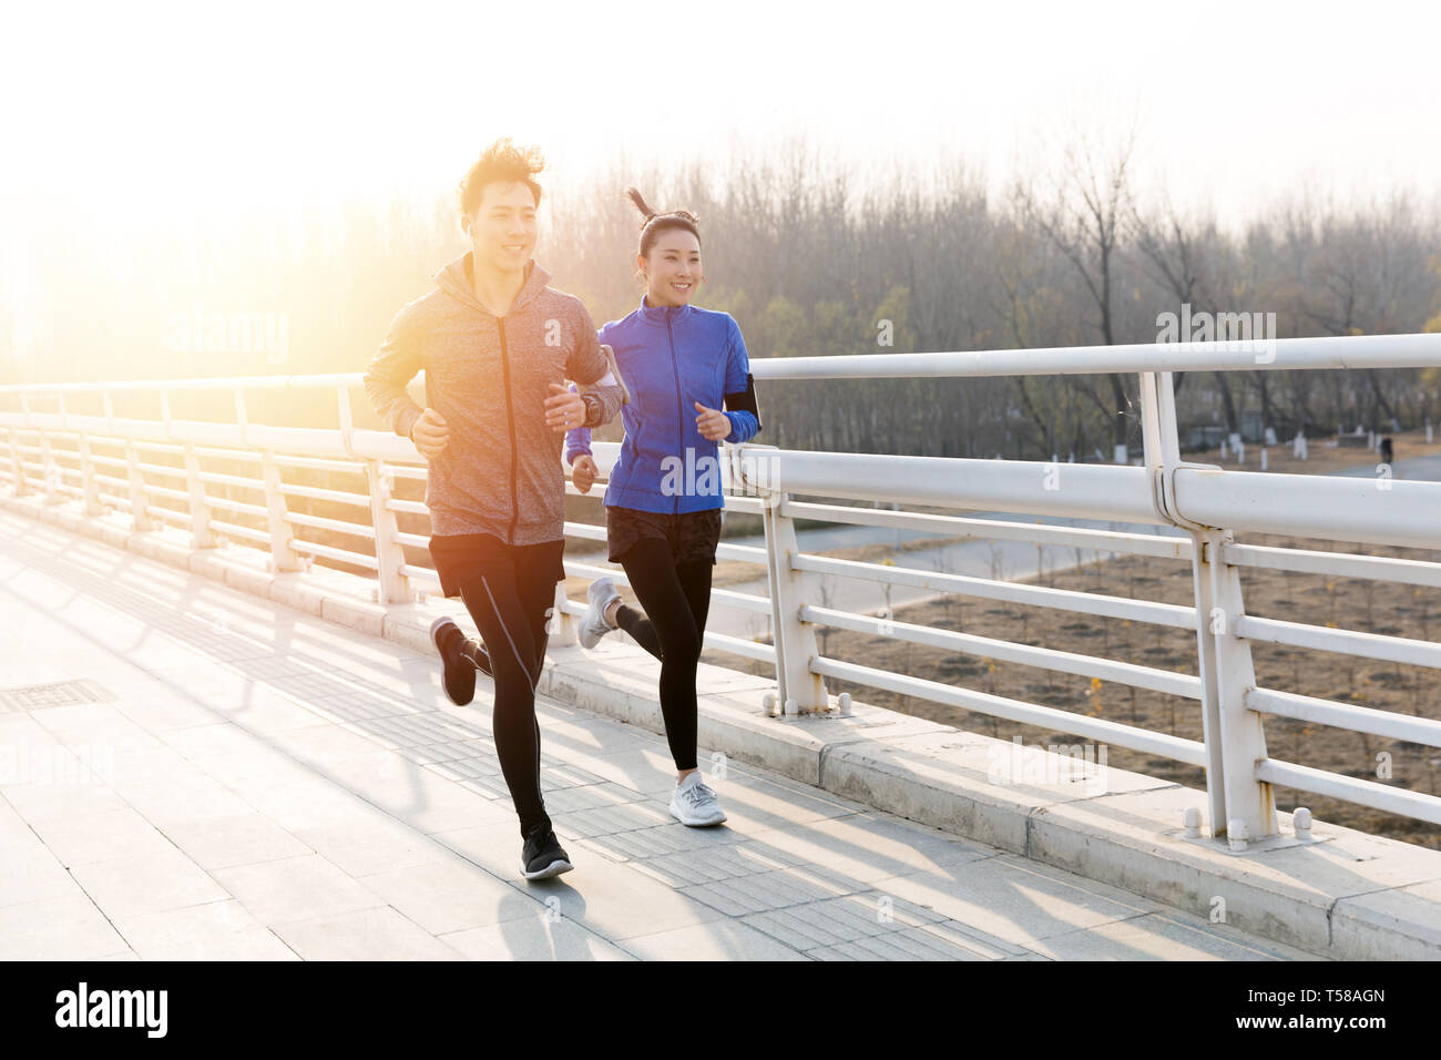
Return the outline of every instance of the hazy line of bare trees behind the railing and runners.
[[[804,147],[617,172],[548,187],[536,257],[597,323],[615,319],[641,291],[638,216],[623,187],[635,183],[657,209],[684,206],[703,238],[697,304],[732,313],[752,359],[1154,342],[1157,316],[1182,304],[1274,313],[1275,337],[1441,330],[1434,206],[1297,198],[1232,232],[1163,198],[1141,205],[1128,164],[1128,150],[1076,147],[1053,177],[999,198],[965,169],[898,173],[860,192]],[[131,245],[84,237],[76,225],[32,239],[23,304],[0,320],[0,381],[360,371],[395,312],[464,251],[448,199],[245,219],[216,203]],[[1437,369],[1193,374],[1176,385],[1183,440],[1193,427],[1288,438],[1441,421]],[[333,421],[329,407],[268,401],[254,395],[254,420]],[[363,404],[357,423],[376,425]],[[761,408],[758,441],[793,449],[1087,460],[1140,444],[1128,375],[775,382],[761,387]]]

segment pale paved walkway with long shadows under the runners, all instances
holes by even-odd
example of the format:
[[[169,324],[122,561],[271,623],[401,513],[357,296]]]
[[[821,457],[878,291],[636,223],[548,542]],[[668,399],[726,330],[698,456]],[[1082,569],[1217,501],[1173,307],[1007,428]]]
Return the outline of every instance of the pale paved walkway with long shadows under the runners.
[[[767,770],[687,829],[664,740],[550,702],[526,884],[487,695],[0,513],[0,959],[1307,956]]]

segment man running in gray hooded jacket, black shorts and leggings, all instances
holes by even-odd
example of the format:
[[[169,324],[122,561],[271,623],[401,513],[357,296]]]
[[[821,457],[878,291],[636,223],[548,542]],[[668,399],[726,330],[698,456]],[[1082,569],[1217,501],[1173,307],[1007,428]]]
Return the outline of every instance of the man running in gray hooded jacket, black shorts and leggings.
[[[366,371],[366,394],[429,461],[431,557],[447,597],[460,596],[484,648],[448,617],[431,636],[444,685],[470,702],[476,669],[494,679],[494,737],[523,838],[520,871],[572,868],[540,795],[535,689],[555,586],[565,578],[561,436],[614,418],[621,388],[579,299],[546,287],[532,261],[543,162],[509,140],[461,182],[471,249],[401,310]],[[405,392],[425,371],[425,408]],[[581,385],[568,391],[565,379]]]

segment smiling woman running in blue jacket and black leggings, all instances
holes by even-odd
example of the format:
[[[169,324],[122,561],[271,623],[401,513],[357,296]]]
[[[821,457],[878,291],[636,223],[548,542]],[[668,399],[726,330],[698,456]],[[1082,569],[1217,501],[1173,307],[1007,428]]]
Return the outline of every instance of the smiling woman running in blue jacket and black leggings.
[[[644,611],[621,603],[611,578],[598,578],[581,643],[595,648],[624,629],[660,659],[660,710],[676,761],[670,812],[686,825],[718,825],[725,812],[696,766],[696,669],[725,505],[718,443],[755,437],[759,410],[741,329],[728,313],[690,304],[703,278],[696,216],[656,213],[634,187],[625,192],[644,218],[635,267],[646,294],[640,309],[599,332],[631,398],[621,407],[625,440],[605,489],[605,531],[610,560],[625,570]],[[597,473],[589,431],[566,436],[566,460],[588,492]]]

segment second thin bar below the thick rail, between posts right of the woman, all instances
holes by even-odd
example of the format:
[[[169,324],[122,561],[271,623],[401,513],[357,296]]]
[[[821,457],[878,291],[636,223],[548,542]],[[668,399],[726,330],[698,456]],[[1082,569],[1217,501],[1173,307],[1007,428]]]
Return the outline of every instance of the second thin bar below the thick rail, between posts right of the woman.
[[[986,600],[1006,600],[1009,603],[1052,607],[1062,611],[1098,614],[1108,619],[1131,619],[1133,622],[1148,622],[1156,626],[1172,626],[1173,629],[1196,629],[1195,609],[1156,603],[1154,600],[1128,600],[1101,593],[1078,593],[1069,588],[973,578],[967,574],[916,571],[908,567],[885,567],[882,564],[833,560],[804,552],[795,557],[791,565],[798,571],[839,574],[847,578],[865,578],[866,581],[879,581],[882,584],[912,586],[938,593],[958,593]]]

